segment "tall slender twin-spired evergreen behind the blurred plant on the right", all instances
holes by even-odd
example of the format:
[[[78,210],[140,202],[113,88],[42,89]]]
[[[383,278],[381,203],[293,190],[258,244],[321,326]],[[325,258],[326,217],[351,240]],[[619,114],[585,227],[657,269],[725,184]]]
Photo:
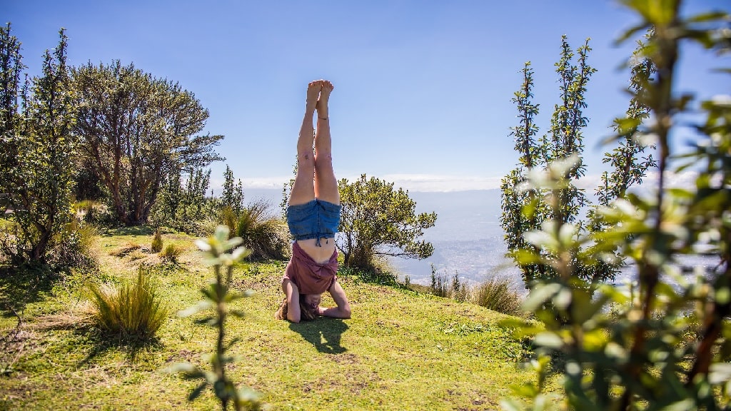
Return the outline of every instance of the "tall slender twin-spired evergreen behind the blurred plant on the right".
[[[548,135],[536,138],[538,127],[534,117],[538,114],[538,105],[532,103],[533,70],[530,63],[523,67],[523,85],[512,99],[518,106],[519,125],[512,129],[510,135],[515,138],[515,150],[520,157],[518,167],[501,181],[501,225],[505,230],[508,252],[520,266],[526,287],[535,279],[556,276],[556,270],[550,264],[521,258],[523,250],[529,249],[550,259],[548,250],[532,246],[524,234],[539,230],[550,220],[575,223],[575,233],[581,228],[578,216],[587,200],[583,190],[578,189],[574,182],[586,171],[581,159],[584,147],[582,130],[588,123],[583,116],[586,108],[584,94],[591,75],[596,72],[587,61],[590,50],[586,39],[584,45],[577,49],[574,61],[575,54],[566,36],[561,37],[561,57],[556,63],[561,102],[553,108]],[[546,188],[526,184],[531,173],[547,170],[552,163],[562,165],[551,169],[561,174],[556,186]],[[577,255],[572,260],[580,264]],[[605,271],[596,278],[595,268],[584,266],[578,271],[579,276],[590,281],[609,278],[603,276]]]

